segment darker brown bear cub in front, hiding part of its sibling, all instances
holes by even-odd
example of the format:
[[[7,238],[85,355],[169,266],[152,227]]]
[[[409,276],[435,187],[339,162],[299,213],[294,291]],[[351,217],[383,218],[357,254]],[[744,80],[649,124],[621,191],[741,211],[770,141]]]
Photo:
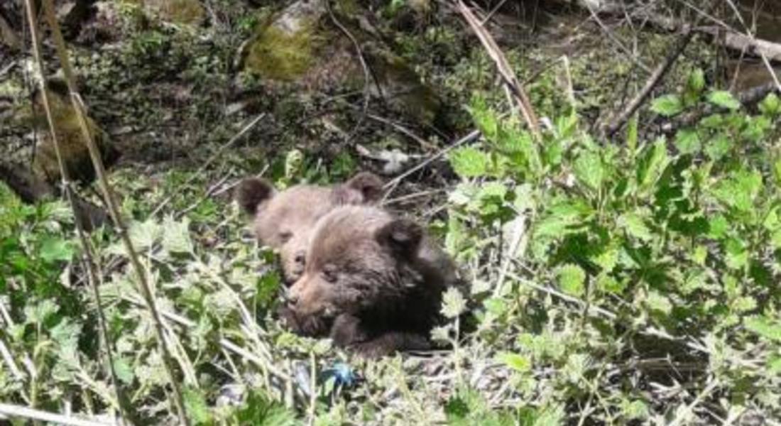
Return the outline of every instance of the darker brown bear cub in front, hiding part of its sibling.
[[[369,357],[430,348],[456,270],[418,224],[342,206],[318,221],[306,259],[287,295],[288,327]]]

